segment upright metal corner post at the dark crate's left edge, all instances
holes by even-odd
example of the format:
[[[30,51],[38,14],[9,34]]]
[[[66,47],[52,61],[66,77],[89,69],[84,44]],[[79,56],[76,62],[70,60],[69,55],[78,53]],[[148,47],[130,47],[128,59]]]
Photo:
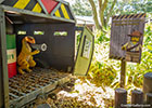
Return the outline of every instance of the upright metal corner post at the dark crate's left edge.
[[[9,78],[4,11],[0,8],[0,107],[9,108]]]

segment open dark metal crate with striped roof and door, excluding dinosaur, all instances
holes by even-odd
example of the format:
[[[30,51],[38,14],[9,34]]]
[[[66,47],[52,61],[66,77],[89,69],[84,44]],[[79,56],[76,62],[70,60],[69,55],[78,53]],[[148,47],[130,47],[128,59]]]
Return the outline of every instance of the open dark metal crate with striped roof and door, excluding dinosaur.
[[[75,31],[81,32],[78,50]],[[47,44],[47,50],[35,56],[33,72],[8,76],[12,72],[8,58],[15,54],[8,56],[14,48],[8,51],[12,41],[8,42],[7,36],[15,38],[16,56],[26,36]],[[0,108],[24,108],[40,94],[49,94],[67,82],[71,76],[86,76],[93,44],[91,31],[76,27],[69,4],[63,0],[0,0]]]

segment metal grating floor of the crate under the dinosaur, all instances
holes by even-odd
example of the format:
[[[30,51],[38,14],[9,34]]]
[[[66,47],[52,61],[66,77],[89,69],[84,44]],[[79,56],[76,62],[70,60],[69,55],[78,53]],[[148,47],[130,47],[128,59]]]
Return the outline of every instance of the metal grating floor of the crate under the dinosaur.
[[[33,72],[9,79],[10,105],[21,107],[40,93],[48,93],[59,84],[69,81],[71,73],[55,69],[35,68]]]

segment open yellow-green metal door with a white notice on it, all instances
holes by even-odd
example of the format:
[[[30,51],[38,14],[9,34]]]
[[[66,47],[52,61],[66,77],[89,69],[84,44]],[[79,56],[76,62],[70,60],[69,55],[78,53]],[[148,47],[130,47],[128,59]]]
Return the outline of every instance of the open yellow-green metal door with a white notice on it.
[[[87,44],[89,44],[87,46]],[[74,67],[75,76],[86,76],[93,54],[94,38],[91,31],[85,27],[78,46],[77,58]],[[87,49],[85,49],[87,48]],[[87,54],[87,56],[86,56]]]

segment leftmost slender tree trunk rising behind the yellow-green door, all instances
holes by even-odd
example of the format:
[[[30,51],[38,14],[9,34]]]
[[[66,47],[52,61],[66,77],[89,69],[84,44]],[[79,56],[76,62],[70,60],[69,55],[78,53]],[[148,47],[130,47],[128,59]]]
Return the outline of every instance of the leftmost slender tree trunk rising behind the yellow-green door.
[[[96,27],[97,27],[97,29],[102,30],[102,26],[100,25],[100,23],[98,21],[98,13],[97,13],[96,4],[94,4],[93,0],[89,0],[89,2],[92,8],[93,21],[94,21]]]

